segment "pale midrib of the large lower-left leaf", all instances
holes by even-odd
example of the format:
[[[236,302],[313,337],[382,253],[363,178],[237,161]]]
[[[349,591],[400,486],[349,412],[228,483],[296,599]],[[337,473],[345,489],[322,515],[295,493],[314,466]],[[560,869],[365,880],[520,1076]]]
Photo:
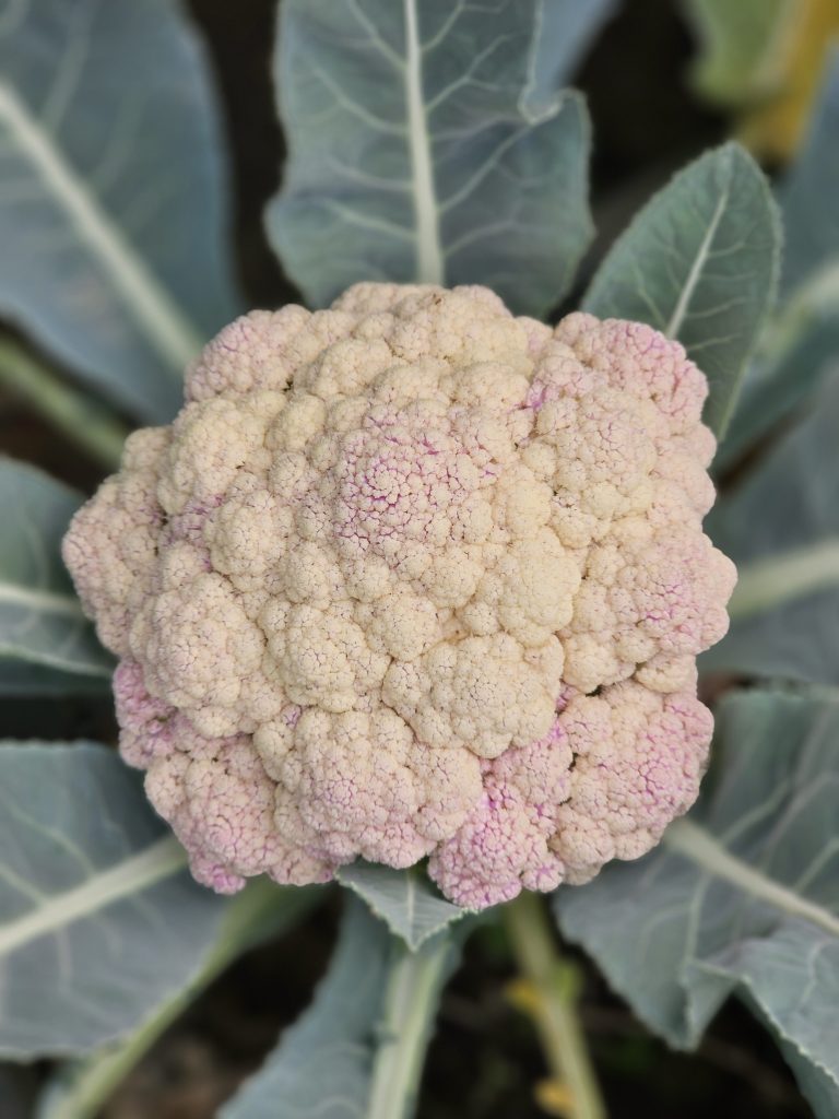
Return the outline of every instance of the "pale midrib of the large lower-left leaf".
[[[38,937],[66,929],[81,918],[106,909],[122,897],[148,890],[187,865],[187,854],[171,836],[119,863],[81,886],[50,897],[40,908],[0,925],[0,961]]]

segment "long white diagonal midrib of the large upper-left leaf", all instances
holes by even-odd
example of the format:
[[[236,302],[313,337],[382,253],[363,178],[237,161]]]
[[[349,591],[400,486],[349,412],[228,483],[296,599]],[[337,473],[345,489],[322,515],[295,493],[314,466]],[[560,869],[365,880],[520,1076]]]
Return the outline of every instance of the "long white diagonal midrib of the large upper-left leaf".
[[[0,121],[6,122],[50,197],[109,274],[128,313],[167,365],[180,372],[201,348],[202,339],[62,158],[38,120],[3,83],[0,83]]]

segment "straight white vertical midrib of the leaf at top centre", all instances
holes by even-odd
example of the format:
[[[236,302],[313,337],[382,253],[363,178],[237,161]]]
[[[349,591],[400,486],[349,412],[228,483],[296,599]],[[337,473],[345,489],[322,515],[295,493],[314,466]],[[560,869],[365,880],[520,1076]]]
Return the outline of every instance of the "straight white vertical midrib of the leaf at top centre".
[[[440,243],[439,205],[434,188],[428,119],[423,98],[422,47],[416,16],[416,0],[405,4],[405,93],[408,107],[411,168],[416,213],[416,270],[421,283],[445,281],[443,248]]]

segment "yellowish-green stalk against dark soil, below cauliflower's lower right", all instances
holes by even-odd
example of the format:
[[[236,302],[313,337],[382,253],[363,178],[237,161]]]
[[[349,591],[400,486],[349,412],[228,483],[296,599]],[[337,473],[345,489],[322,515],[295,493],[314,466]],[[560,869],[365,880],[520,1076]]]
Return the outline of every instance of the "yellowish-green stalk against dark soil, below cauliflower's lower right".
[[[569,1119],[605,1119],[577,1015],[577,971],[558,953],[544,902],[538,894],[522,892],[502,913],[526,980],[526,997],[518,1003],[534,1019],[548,1068],[566,1099],[565,1113]]]

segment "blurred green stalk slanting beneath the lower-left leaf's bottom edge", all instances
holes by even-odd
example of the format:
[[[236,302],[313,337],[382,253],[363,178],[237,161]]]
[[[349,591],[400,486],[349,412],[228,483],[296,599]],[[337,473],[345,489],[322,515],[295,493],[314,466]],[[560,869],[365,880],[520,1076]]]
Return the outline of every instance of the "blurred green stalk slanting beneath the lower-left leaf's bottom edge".
[[[318,896],[317,888],[277,886],[267,878],[251,881],[226,903],[218,937],[191,981],[121,1042],[59,1066],[41,1093],[37,1119],[95,1119],[114,1088],[198,994],[243,952],[302,920]]]

